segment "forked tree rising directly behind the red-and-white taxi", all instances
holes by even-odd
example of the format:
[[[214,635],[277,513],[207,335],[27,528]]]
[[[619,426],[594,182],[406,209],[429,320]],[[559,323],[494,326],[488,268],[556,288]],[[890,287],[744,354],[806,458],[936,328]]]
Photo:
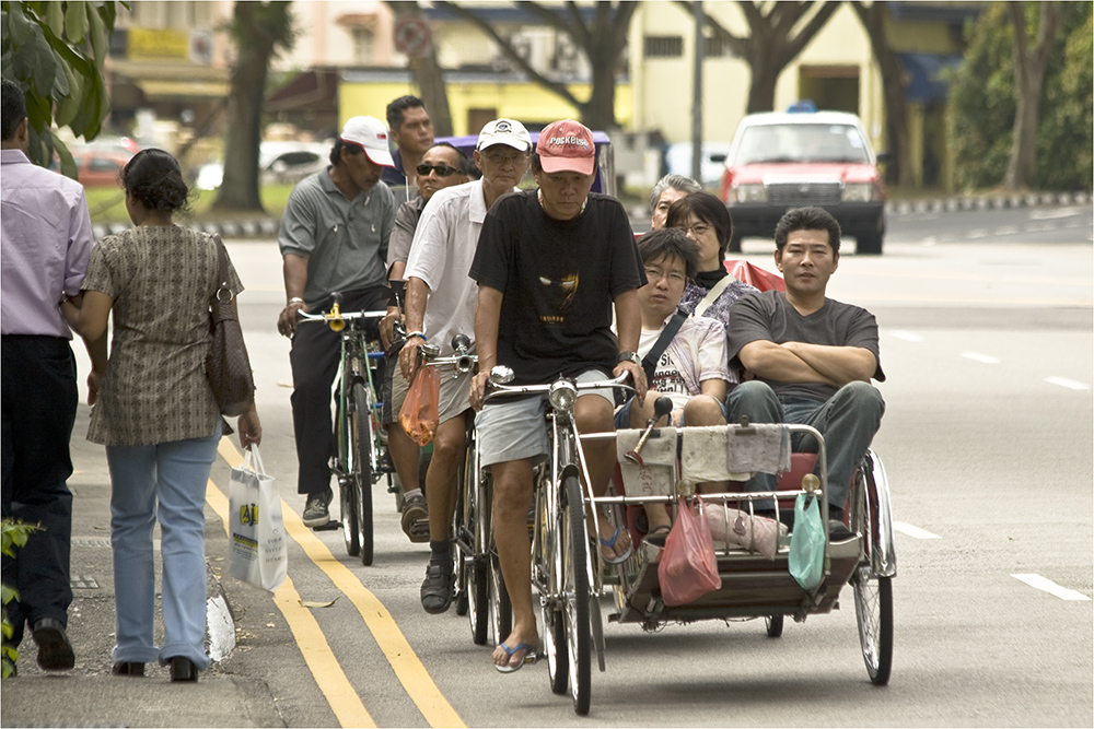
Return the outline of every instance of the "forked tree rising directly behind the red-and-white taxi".
[[[695,15],[694,3],[680,2]],[[779,74],[819,33],[839,8],[839,2],[747,2],[737,7],[748,24],[747,37],[736,36],[709,14],[707,25],[752,71],[746,114],[775,109],[775,84]]]

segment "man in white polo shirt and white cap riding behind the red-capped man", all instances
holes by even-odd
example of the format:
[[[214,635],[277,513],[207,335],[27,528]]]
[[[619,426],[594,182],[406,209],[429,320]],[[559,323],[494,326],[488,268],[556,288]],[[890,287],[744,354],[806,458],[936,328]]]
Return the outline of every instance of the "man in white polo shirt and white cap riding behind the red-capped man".
[[[393,380],[394,400],[400,399],[399,390],[405,392],[409,387],[423,343],[445,355],[453,351],[455,334],[474,337],[478,286],[467,271],[482,222],[499,198],[516,191],[531,154],[532,136],[524,125],[494,119],[479,132],[473,155],[482,178],[439,190],[422,210],[405,272],[407,343],[399,353],[403,376],[395,375]],[[470,413],[470,373],[451,371],[441,376],[440,425],[426,472],[430,560],[421,585],[421,605],[430,613],[444,612],[452,604],[450,527]]]

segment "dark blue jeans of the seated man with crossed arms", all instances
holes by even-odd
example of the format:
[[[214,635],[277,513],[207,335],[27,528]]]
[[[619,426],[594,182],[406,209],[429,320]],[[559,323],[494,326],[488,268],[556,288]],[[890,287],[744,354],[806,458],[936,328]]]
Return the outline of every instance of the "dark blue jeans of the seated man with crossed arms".
[[[824,436],[828,450],[828,505],[842,509],[850,491],[851,475],[882,424],[885,401],[870,383],[848,383],[827,402],[800,397],[778,397],[767,383],[753,380],[730,392],[730,422],[747,415],[753,423],[796,423],[812,425]],[[794,434],[795,451],[816,451],[815,439]],[[776,478],[757,473],[745,482],[746,491],[775,491]],[[772,508],[770,502],[757,502]]]

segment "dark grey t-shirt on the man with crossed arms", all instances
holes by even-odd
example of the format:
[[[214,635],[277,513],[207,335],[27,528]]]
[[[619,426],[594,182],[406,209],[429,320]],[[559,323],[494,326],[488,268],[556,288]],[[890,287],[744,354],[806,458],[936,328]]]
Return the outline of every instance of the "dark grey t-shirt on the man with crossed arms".
[[[866,309],[831,298],[808,316],[802,316],[781,291],[765,291],[742,296],[730,308],[728,327],[730,361],[740,365],[737,355],[749,342],[767,340],[776,344],[806,342],[828,346],[861,346],[877,361],[874,379],[885,381],[877,349],[877,321]],[[779,397],[803,397],[825,401],[836,388],[819,383],[780,383],[759,378]]]

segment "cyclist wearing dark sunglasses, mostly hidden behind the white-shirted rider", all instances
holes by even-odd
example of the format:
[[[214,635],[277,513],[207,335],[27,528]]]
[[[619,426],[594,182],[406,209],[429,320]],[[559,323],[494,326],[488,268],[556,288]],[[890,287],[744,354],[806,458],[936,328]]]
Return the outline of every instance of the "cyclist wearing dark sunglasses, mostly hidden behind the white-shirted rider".
[[[414,233],[418,227],[418,220],[421,217],[421,211],[426,203],[438,190],[463,185],[472,178],[470,161],[449,142],[440,142],[426,150],[416,172],[418,173],[418,190],[421,195],[404,202],[395,212],[395,230],[392,231],[392,240],[387,249],[387,278],[396,292],[401,292],[403,272],[406,270],[407,257],[410,255],[410,242],[414,240]],[[398,356],[399,348],[401,348],[401,343],[394,342],[394,326],[403,315],[403,296],[400,293],[396,295],[398,301],[393,301],[388,305],[387,317],[380,324],[381,339],[389,360]],[[401,514],[403,531],[411,542],[424,542],[429,541],[429,507],[426,504],[426,496],[418,487],[418,463],[421,458],[421,448],[398,425],[399,409],[406,398],[406,387],[399,388],[398,399],[393,397],[393,378],[396,376],[396,369],[397,367],[392,362],[384,373],[382,420],[384,428],[387,431],[387,448],[392,454],[392,461],[395,463],[395,472],[398,473],[399,481],[405,489]]]

